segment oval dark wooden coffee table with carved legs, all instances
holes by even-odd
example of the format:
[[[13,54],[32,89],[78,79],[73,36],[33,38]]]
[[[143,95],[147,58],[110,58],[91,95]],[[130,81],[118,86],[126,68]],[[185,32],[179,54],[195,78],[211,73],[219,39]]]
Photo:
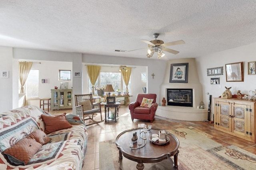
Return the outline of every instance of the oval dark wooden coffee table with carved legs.
[[[123,131],[116,137],[116,145],[119,150],[119,165],[121,169],[124,168],[132,168],[132,166],[135,169],[135,165],[132,164],[132,161],[137,162],[136,168],[138,170],[143,170],[145,166],[147,166],[147,169],[157,169],[157,167],[168,167],[170,169],[170,164],[173,164],[174,170],[178,170],[178,153],[179,153],[179,140],[176,136],[168,133],[167,136],[170,139],[170,143],[167,143],[165,145],[156,145],[149,141],[149,137],[156,133],[158,134],[158,131],[162,129],[152,128],[148,133],[146,133],[146,145],[140,149],[137,143],[134,143],[133,149],[129,147],[129,141],[132,139],[133,133],[137,132],[137,136],[139,138],[140,129],[129,129],[126,131]],[[140,139],[143,141],[142,139]],[[123,159],[122,155],[124,155],[125,158]],[[174,163],[171,156],[174,156]],[[167,160],[166,160],[167,159]],[[132,161],[130,161],[132,160]],[[161,162],[162,161],[162,162]],[[152,164],[159,162],[158,165]],[[150,168],[148,167],[148,163],[150,165]],[[167,164],[167,165],[166,165]],[[152,167],[154,166],[154,167]],[[162,168],[159,168],[162,169]]]

